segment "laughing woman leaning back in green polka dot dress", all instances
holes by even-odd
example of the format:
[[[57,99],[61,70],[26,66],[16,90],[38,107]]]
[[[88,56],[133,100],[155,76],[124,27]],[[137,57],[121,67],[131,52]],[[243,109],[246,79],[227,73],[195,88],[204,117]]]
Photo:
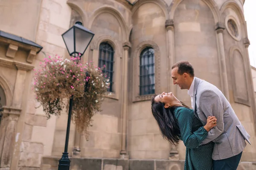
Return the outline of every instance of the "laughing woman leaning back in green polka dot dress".
[[[151,100],[151,110],[160,131],[170,143],[182,140],[186,146],[184,170],[212,170],[213,142],[200,145],[208,131],[216,126],[215,116],[209,116],[203,126],[194,111],[172,93],[163,92]]]

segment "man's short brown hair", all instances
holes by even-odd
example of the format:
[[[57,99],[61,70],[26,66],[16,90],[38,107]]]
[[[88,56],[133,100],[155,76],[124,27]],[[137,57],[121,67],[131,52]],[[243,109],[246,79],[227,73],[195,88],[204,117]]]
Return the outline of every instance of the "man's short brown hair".
[[[182,75],[184,73],[189,74],[191,77],[195,77],[194,68],[188,61],[179,61],[172,65],[172,69],[178,68],[178,74]]]

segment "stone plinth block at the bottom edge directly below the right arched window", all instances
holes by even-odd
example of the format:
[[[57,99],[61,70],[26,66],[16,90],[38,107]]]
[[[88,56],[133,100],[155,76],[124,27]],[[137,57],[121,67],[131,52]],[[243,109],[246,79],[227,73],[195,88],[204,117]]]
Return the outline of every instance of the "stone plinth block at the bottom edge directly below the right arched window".
[[[130,160],[129,170],[154,170],[154,161]]]

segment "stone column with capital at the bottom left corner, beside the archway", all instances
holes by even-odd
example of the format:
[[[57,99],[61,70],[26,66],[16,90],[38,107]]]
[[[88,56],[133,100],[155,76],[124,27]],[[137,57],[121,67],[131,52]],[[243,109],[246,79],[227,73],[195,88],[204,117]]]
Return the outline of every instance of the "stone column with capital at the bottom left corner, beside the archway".
[[[0,170],[11,166],[12,153],[19,134],[15,137],[20,109],[3,107],[0,125]]]

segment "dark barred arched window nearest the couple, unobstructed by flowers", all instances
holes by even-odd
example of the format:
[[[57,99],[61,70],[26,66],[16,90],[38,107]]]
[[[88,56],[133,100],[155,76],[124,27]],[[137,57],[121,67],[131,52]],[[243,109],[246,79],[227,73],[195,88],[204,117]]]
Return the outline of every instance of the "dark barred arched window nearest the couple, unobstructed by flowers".
[[[145,48],[140,54],[140,95],[155,93],[154,49]]]

